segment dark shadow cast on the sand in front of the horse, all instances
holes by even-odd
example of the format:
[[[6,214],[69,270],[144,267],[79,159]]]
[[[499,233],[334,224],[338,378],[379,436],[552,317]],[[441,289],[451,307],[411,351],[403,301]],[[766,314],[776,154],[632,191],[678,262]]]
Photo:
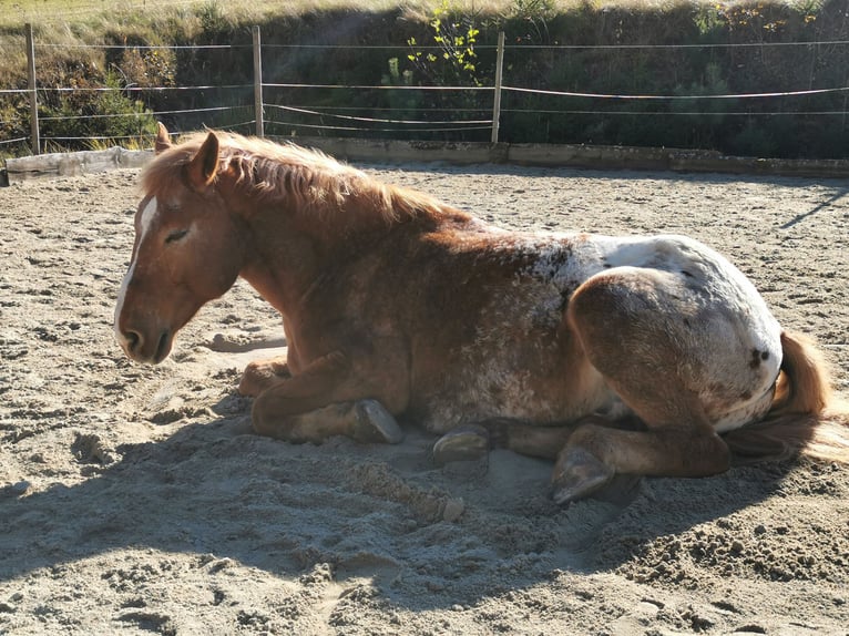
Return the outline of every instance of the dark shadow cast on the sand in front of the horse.
[[[769,496],[788,470],[643,480],[562,509],[545,494],[549,462],[493,451],[483,465],[439,468],[432,438],[406,429],[396,447],[293,445],[252,434],[237,413],[117,447],[106,465],[78,453],[79,483],[0,495],[0,579],[151,548],[287,579],[329,564],[395,604],[450,607],[503,585],[505,568],[529,587],[558,570],[613,571],[641,542]]]

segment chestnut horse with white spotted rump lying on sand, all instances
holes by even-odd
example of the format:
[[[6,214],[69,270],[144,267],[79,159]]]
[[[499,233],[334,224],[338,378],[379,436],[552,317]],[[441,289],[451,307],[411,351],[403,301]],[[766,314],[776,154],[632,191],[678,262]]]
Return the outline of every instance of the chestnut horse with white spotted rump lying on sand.
[[[244,278],[288,345],[239,382],[258,434],[399,443],[415,422],[438,462],[554,460],[559,503],[733,457],[849,462],[816,346],[692,238],[508,232],[318,151],[162,124],[141,185],[117,340],[158,363]]]

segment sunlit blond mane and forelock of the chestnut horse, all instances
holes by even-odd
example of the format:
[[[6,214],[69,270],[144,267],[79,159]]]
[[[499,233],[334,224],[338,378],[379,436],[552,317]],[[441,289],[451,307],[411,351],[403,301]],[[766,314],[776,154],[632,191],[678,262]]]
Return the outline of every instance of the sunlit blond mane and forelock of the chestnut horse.
[[[215,134],[219,144],[218,175],[231,171],[242,188],[266,203],[285,201],[289,208],[319,213],[365,204],[388,219],[444,208],[430,195],[381,183],[320,151],[233,133]],[[197,153],[206,135],[190,135],[157,155],[142,174],[144,192],[183,187],[181,168]]]

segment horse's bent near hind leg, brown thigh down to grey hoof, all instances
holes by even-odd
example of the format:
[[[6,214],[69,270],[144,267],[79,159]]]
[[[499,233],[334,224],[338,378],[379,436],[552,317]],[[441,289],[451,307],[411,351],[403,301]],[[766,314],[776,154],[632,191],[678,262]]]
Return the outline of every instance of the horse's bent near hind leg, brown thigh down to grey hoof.
[[[729,345],[727,334],[713,338],[709,327],[689,332],[709,319],[694,295],[672,274],[634,268],[597,275],[573,295],[567,318],[585,355],[647,430],[579,427],[558,457],[556,501],[585,496],[616,473],[703,476],[728,469],[728,448],[699,393],[698,380],[709,378],[697,348]]]

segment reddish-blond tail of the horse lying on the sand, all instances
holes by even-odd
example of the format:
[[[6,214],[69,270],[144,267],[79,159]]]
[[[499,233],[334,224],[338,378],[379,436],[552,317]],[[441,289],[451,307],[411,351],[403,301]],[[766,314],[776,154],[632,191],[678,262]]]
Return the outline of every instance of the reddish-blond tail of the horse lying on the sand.
[[[760,422],[725,434],[736,463],[798,454],[849,464],[849,406],[833,399],[820,351],[808,338],[781,334],[781,372]]]

